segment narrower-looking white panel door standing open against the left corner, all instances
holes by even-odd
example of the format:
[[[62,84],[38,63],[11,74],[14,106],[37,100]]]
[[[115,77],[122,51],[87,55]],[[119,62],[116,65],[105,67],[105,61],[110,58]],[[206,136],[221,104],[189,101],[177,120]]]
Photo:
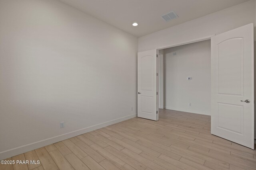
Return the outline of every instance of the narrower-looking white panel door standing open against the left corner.
[[[158,120],[156,50],[138,53],[138,117]]]

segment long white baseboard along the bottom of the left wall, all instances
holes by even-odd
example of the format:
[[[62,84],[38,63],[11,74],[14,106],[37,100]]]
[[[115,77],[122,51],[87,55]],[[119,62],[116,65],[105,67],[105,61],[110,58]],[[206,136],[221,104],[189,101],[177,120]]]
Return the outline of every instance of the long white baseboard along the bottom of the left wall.
[[[0,160],[10,158],[10,157],[18,155],[18,154],[22,154],[22,153],[28,152],[30,150],[38,149],[40,147],[44,147],[44,146],[50,145],[52,143],[63,141],[65,139],[68,139],[68,138],[71,138],[71,137],[82,135],[84,133],[94,131],[96,129],[100,129],[100,128],[106,127],[108,125],[113,125],[113,124],[119,123],[121,121],[132,119],[134,117],[137,117],[137,113],[132,114],[132,115],[128,115],[128,116],[125,116],[125,117],[121,117],[121,118],[118,118],[118,119],[114,119],[114,120],[111,120],[111,121],[107,121],[107,122],[104,122],[104,123],[100,123],[98,125],[93,125],[93,126],[90,126],[90,127],[86,127],[86,128],[83,128],[83,129],[79,129],[79,130],[76,130],[76,131],[72,131],[72,132],[69,132],[69,133],[65,133],[65,134],[62,134],[62,135],[51,137],[51,138],[48,138],[48,139],[44,139],[44,140],[41,140],[41,141],[37,141],[37,142],[34,142],[34,143],[30,143],[30,144],[27,144],[27,145],[23,145],[23,146],[20,146],[20,147],[16,147],[16,148],[13,148],[13,149],[4,150],[4,151],[0,152]]]

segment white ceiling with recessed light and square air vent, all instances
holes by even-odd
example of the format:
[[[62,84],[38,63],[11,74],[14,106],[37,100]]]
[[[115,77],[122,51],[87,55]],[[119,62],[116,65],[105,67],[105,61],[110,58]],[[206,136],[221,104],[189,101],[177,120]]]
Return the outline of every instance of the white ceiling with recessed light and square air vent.
[[[137,37],[159,31],[248,0],[60,0]],[[174,11],[178,19],[161,16]],[[137,27],[132,26],[137,22]]]

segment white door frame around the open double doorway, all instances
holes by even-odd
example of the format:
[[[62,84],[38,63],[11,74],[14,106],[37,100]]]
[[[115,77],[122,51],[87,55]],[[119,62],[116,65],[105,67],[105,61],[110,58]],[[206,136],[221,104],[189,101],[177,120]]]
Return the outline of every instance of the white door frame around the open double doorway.
[[[161,48],[158,48],[156,49],[156,54],[159,56],[159,50],[162,50],[162,49],[168,49],[168,48],[171,48],[171,47],[177,47],[177,46],[181,46],[181,45],[186,45],[186,44],[192,44],[192,43],[197,43],[197,42],[200,42],[200,41],[205,41],[205,40],[210,40],[212,39],[213,36],[215,36],[216,34],[214,35],[209,35],[209,36],[206,36],[206,37],[201,37],[201,38],[197,38],[197,39],[192,39],[192,40],[188,40],[188,41],[184,41],[184,42],[180,42],[180,43],[175,43],[175,44],[172,44],[172,45],[168,45],[166,47],[161,47]],[[212,55],[212,54],[211,54]],[[212,57],[212,56],[211,56]],[[157,92],[158,92],[158,95],[156,96],[156,102],[157,102],[157,111],[159,113],[159,101],[160,101],[160,92],[159,92],[159,87],[160,87],[160,80],[159,80],[159,72],[160,72],[160,61],[159,61],[159,57],[157,57],[156,59],[156,64],[157,64],[157,67],[156,67],[156,71],[158,73],[158,76],[156,77],[156,83],[157,83]],[[212,96],[212,94],[211,94]],[[212,97],[211,97],[212,98]]]

